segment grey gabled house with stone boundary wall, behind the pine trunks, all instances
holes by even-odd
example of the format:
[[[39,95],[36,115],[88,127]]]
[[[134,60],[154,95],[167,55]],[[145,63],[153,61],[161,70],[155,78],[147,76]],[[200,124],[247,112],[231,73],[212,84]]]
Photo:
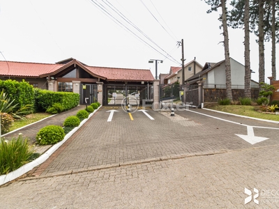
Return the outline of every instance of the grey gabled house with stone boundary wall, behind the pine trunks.
[[[245,66],[230,58],[232,97],[239,100],[244,97]],[[252,70],[251,70],[252,73]],[[202,82],[202,91],[198,91],[198,84]],[[202,71],[186,79],[185,102],[201,105],[206,102],[218,102],[226,98],[225,60],[218,63],[205,63]],[[251,98],[259,95],[259,84],[251,79]],[[202,93],[202,95],[199,95]]]

